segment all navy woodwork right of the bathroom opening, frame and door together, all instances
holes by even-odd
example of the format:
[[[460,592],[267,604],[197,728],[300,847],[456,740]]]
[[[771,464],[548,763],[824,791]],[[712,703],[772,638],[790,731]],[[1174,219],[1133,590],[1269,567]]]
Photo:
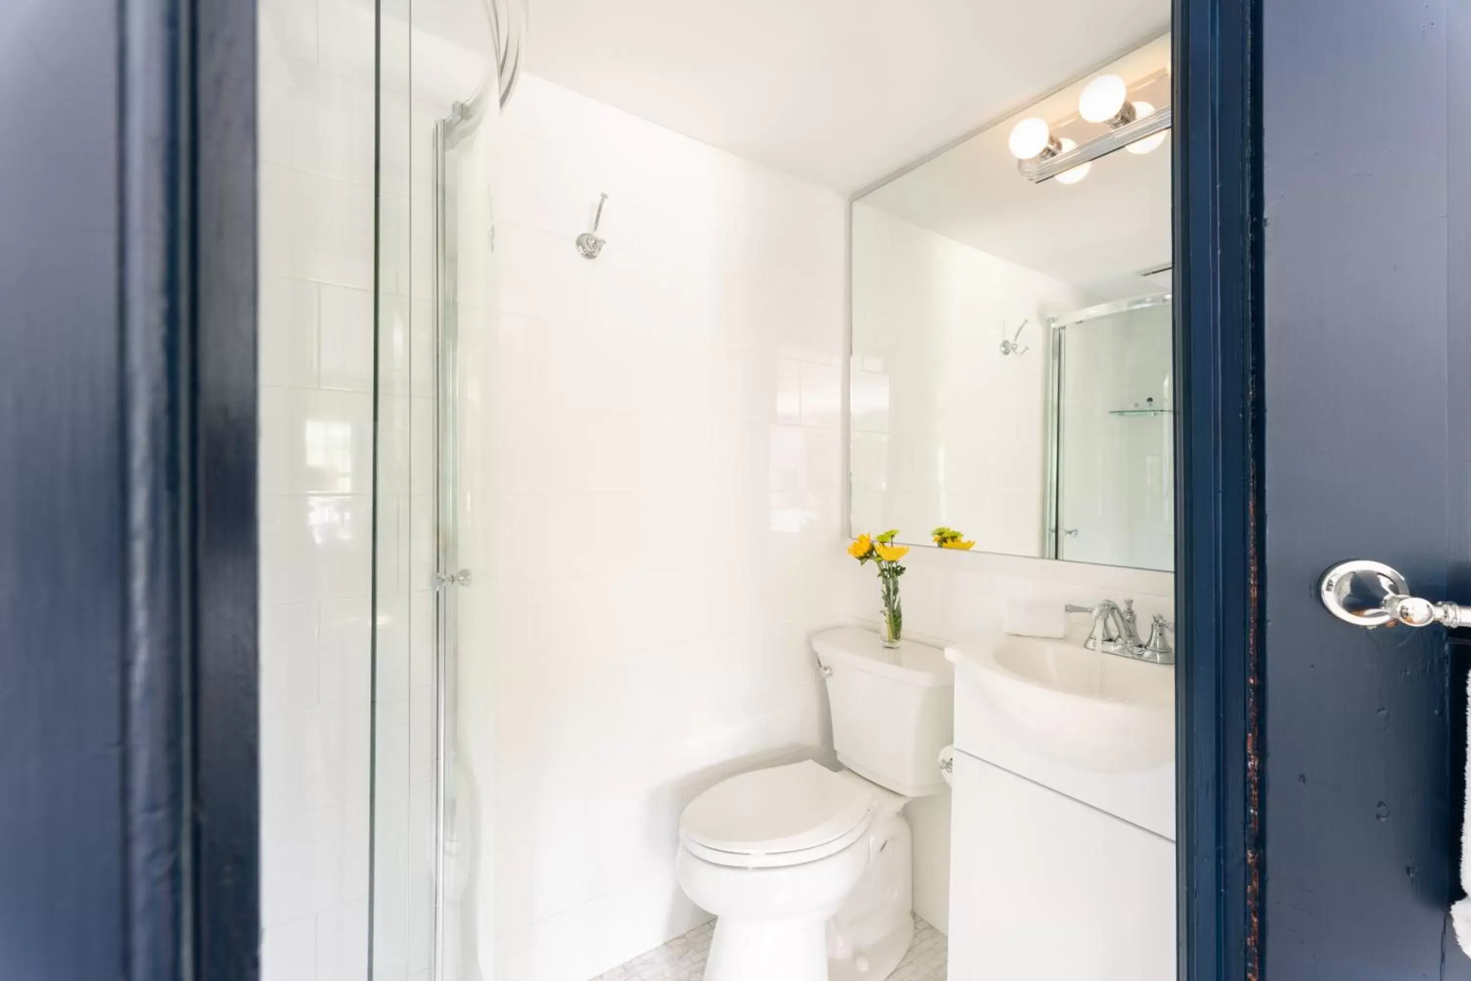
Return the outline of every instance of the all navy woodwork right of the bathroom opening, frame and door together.
[[[1471,978],[1471,4],[1175,0],[1181,978]],[[1471,632],[1471,631],[1462,631]]]

